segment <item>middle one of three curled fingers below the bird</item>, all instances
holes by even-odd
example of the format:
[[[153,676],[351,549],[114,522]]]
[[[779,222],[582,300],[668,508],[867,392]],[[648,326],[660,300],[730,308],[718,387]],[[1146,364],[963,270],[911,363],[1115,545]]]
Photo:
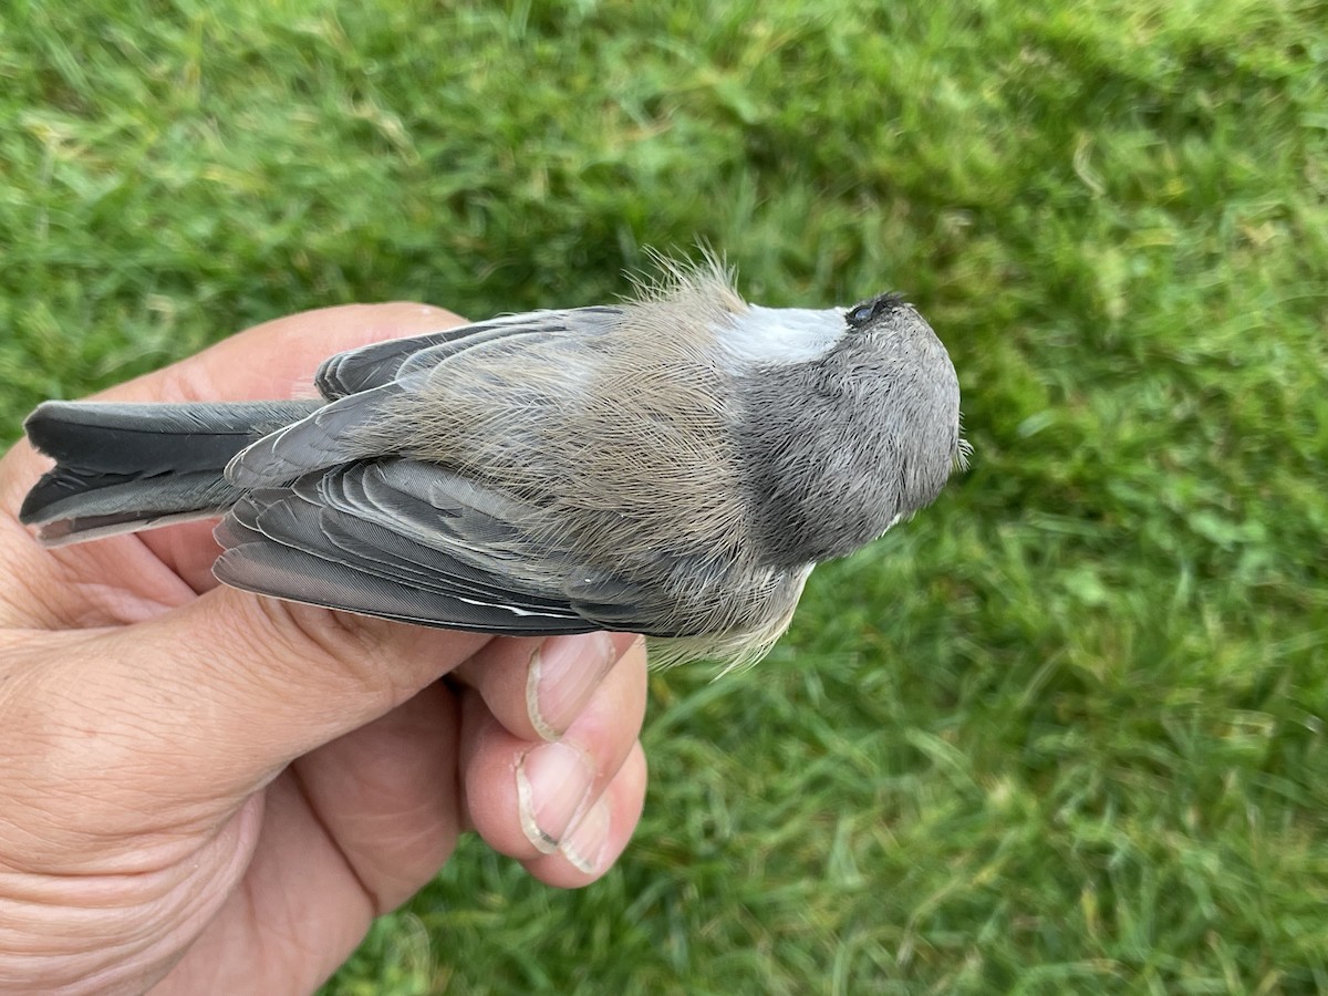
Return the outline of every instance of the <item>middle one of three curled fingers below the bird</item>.
[[[644,714],[644,643],[632,644],[555,742],[514,736],[467,692],[461,752],[471,825],[514,858],[552,854],[622,768]]]

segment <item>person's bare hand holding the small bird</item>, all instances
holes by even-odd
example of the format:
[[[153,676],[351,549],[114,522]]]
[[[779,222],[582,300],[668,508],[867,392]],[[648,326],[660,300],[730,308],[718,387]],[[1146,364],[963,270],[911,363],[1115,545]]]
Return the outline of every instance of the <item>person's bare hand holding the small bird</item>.
[[[308,312],[101,397],[312,396],[325,356],[458,323]],[[255,598],[211,523],[45,550],[15,515],[46,466],[0,461],[0,992],[305,992],[463,831],[560,887],[627,846],[639,640]]]

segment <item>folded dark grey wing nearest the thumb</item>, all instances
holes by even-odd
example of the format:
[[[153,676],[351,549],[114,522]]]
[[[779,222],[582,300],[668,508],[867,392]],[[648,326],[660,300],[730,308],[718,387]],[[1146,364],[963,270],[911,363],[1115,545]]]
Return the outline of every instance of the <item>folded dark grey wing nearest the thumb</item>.
[[[576,611],[529,510],[409,459],[252,491],[218,529],[214,568],[238,588],[424,625],[552,635],[603,628]],[[616,610],[619,614],[622,607]]]

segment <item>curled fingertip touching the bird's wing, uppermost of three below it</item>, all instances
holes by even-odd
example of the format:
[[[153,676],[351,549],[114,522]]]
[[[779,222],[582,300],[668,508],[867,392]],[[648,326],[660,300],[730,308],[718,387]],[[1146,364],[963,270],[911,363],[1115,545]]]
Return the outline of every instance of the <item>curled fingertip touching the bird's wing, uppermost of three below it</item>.
[[[631,633],[493,640],[457,668],[521,740],[558,740],[627,652]]]

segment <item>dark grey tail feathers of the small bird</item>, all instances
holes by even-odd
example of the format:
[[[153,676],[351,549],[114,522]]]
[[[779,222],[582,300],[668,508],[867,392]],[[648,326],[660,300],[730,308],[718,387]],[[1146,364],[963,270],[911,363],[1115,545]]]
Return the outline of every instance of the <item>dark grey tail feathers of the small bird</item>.
[[[56,466],[19,511],[49,546],[218,515],[240,490],[231,457],[323,401],[48,401],[24,424]]]

